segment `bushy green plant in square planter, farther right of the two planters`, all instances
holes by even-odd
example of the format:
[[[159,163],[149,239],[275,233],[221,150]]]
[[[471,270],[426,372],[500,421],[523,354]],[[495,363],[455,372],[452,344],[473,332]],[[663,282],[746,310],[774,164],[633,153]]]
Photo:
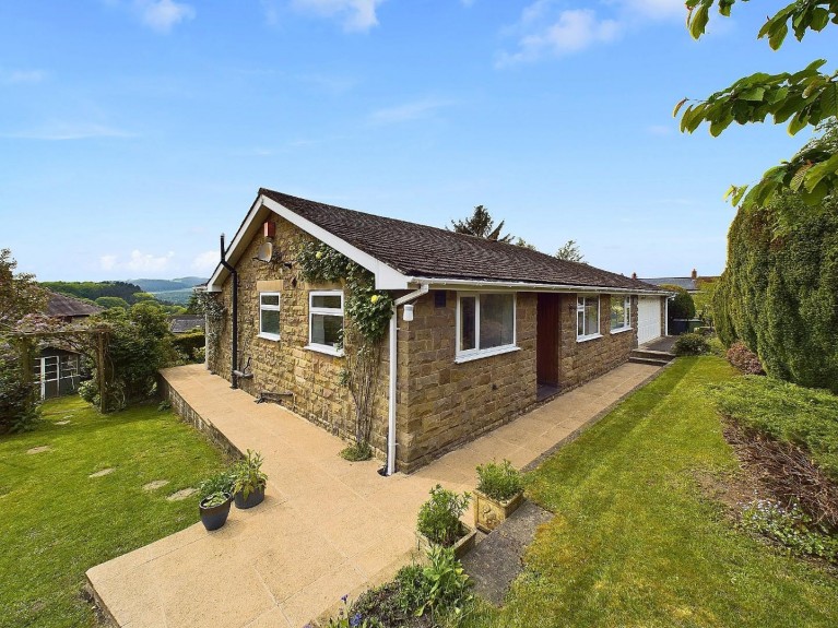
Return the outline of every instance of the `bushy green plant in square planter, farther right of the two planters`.
[[[488,534],[523,501],[521,473],[508,460],[477,465],[474,491],[474,525]]]

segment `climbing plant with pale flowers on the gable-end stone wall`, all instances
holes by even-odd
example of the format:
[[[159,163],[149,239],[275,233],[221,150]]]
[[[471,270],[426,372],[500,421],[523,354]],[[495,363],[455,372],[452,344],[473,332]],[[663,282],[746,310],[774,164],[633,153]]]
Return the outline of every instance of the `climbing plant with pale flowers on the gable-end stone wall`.
[[[355,442],[344,458],[364,460],[373,454],[373,402],[381,364],[381,344],[392,316],[392,296],[375,288],[375,276],[328,245],[298,245],[300,276],[309,283],[341,282],[344,286],[344,325],[341,346],[346,365],[341,383],[355,404]]]

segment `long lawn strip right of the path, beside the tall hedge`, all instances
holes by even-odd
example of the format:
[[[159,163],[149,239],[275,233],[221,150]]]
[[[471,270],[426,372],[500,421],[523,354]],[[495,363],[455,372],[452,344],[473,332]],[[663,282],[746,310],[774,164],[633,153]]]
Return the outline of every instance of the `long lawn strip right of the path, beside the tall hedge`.
[[[737,472],[707,391],[734,377],[680,358],[530,474],[555,519],[503,609],[465,624],[838,626],[838,578],[736,530],[696,479]]]

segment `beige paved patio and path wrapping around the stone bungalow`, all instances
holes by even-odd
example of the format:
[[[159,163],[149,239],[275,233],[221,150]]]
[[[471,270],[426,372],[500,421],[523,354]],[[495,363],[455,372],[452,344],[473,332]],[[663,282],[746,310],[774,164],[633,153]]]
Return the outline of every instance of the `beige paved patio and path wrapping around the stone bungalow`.
[[[265,500],[233,508],[216,532],[196,523],[92,568],[87,579],[122,628],[298,628],[410,560],[416,512],[435,484],[469,490],[480,463],[532,463],[657,370],[623,365],[416,473],[381,477],[380,462],[344,461],[339,438],[253,403],[202,365],[167,369],[205,422],[239,450],[264,455]]]

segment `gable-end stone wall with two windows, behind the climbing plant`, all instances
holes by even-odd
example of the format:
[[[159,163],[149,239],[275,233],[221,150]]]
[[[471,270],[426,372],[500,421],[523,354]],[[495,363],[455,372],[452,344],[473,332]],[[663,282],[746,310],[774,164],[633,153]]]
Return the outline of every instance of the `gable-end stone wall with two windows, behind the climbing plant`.
[[[309,238],[287,221],[273,215],[276,224],[274,251],[293,260],[297,247]],[[299,277],[299,269],[286,269],[282,263],[255,260],[264,241],[258,234],[241,254],[238,271],[238,370],[250,360],[251,379],[239,379],[239,388],[253,396],[260,392],[291,393],[282,404],[326,429],[347,438],[354,435],[354,403],[349,389],[340,383],[345,358],[305,348],[308,344],[309,291],[341,289],[341,284],[311,285]],[[232,281],[222,291],[227,311],[221,325],[219,351],[209,359],[213,372],[231,379],[232,352]],[[259,293],[280,293],[280,340],[259,337]],[[371,445],[380,453],[387,438],[387,372],[388,354],[385,340],[378,387],[375,392]],[[351,351],[351,347],[346,347]]]

